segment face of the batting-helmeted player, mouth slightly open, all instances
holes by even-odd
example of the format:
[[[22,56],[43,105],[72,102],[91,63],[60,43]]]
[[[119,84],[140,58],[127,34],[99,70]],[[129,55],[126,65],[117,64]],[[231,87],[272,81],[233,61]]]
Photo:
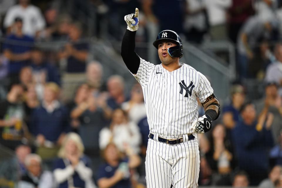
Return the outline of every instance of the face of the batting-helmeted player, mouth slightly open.
[[[171,57],[168,53],[168,48],[177,46],[177,44],[174,44],[172,42],[162,42],[158,46],[158,54],[161,62],[165,65],[168,65],[174,61],[176,61],[177,58]]]

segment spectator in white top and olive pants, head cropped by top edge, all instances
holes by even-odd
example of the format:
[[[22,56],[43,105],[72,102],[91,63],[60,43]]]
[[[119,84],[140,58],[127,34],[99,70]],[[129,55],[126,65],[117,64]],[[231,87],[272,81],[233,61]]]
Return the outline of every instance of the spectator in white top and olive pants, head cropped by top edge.
[[[226,40],[226,13],[232,4],[232,0],[205,0],[205,3],[209,17],[209,33],[212,40]]]

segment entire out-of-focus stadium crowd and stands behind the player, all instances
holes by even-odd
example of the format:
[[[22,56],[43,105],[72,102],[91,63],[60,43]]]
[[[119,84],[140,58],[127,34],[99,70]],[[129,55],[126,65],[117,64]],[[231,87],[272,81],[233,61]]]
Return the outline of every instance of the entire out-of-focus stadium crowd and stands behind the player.
[[[0,187],[146,187],[142,88],[120,56],[135,7],[140,57],[160,64],[152,42],[176,31],[220,101],[200,187],[282,187],[281,0],[0,0]]]

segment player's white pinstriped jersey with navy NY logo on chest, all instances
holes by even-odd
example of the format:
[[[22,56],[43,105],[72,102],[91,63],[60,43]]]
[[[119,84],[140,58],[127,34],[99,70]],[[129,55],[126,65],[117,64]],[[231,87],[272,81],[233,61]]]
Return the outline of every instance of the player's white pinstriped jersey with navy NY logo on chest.
[[[140,58],[137,74],[133,74],[142,86],[150,131],[163,137],[192,133],[192,122],[198,118],[197,98],[203,103],[213,94],[202,73],[179,64],[180,68],[169,72],[162,64]]]

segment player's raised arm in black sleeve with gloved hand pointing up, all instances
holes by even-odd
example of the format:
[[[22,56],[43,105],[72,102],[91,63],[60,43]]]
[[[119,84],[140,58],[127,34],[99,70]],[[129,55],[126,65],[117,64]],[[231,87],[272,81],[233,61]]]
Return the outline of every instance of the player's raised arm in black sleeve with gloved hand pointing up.
[[[128,14],[124,17],[127,23],[127,30],[122,39],[121,56],[131,73],[136,74],[140,65],[140,58],[135,50],[135,35],[138,29],[139,10],[135,9],[135,14]]]

